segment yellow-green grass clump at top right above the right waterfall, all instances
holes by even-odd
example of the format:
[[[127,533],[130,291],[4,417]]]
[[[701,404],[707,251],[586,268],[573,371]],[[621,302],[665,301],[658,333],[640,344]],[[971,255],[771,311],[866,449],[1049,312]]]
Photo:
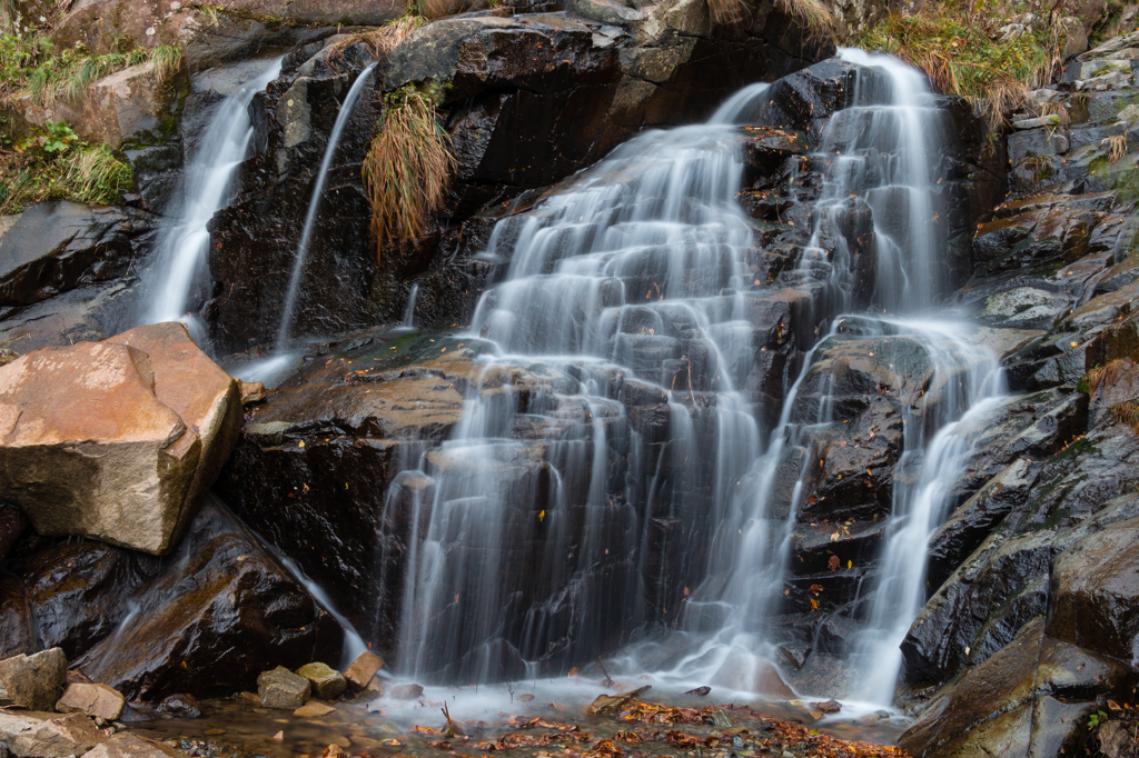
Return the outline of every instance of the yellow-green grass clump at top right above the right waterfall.
[[[891,13],[847,43],[920,68],[934,90],[968,98],[999,129],[1027,90],[1049,83],[1063,67],[1064,15],[1031,10],[1024,3],[929,3],[912,14]]]

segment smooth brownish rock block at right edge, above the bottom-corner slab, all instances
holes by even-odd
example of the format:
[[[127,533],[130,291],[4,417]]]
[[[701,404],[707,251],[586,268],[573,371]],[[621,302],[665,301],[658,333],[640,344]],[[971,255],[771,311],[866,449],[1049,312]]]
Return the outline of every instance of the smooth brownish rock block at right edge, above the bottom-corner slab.
[[[1113,524],[1056,558],[1048,634],[1081,648],[1139,660],[1139,519]]]

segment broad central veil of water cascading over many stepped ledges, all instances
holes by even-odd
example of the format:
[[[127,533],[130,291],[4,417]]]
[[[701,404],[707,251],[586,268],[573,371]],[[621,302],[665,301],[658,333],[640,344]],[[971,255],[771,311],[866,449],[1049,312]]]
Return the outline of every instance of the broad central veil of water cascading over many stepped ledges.
[[[617,642],[600,618],[629,634],[675,613],[658,594],[659,542],[698,539],[662,532],[730,499],[760,450],[737,389],[753,362],[753,232],[727,122],[762,89],[721,123],[639,135],[495,228],[487,253],[509,271],[470,335],[494,355],[424,464],[434,494],[402,593],[409,670],[535,674],[525,661]]]

